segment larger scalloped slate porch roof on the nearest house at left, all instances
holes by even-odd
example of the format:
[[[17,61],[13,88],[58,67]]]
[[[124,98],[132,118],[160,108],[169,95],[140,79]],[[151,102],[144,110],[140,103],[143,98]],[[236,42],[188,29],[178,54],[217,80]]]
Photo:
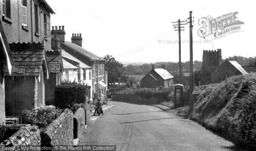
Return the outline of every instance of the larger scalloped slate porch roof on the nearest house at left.
[[[39,76],[43,66],[44,48],[40,43],[12,43],[12,74],[4,65],[5,76]]]

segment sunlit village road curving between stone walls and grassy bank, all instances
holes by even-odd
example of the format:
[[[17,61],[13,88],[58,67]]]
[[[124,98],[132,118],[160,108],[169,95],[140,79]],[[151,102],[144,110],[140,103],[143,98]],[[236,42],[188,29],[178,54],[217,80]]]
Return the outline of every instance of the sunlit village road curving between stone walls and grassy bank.
[[[142,104],[111,101],[92,116],[79,145],[116,145],[117,151],[225,151],[233,143],[198,123]],[[96,119],[97,118],[97,119]]]

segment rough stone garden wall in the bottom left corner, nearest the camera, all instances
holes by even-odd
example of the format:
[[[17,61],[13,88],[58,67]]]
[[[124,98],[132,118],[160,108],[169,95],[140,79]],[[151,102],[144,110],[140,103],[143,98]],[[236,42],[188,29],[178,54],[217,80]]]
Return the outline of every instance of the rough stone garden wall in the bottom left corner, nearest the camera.
[[[41,145],[41,138],[38,126],[26,125],[20,128],[15,134],[9,137],[7,140],[4,140],[0,144],[0,148],[3,146],[6,147],[15,147],[18,146],[26,147],[31,145]],[[29,148],[29,151],[35,151],[35,149]]]

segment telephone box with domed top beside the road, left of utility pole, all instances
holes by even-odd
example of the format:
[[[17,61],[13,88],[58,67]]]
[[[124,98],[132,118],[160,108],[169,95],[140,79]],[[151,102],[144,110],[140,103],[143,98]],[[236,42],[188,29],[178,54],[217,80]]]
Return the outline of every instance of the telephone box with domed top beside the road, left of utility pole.
[[[177,108],[183,103],[183,85],[175,84],[174,85],[174,108]]]

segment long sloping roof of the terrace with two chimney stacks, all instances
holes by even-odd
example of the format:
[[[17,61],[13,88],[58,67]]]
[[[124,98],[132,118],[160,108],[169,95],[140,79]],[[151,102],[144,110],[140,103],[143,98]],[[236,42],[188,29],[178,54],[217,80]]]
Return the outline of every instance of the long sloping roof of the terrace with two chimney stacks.
[[[61,42],[61,45],[67,46],[67,47],[73,49],[74,51],[79,52],[83,56],[88,57],[91,61],[99,61],[99,58],[100,58],[99,56],[97,56],[96,54],[80,47],[79,45],[76,45],[76,44],[71,43],[71,42],[65,42],[65,43]],[[105,60],[100,58],[100,61],[105,61]]]

